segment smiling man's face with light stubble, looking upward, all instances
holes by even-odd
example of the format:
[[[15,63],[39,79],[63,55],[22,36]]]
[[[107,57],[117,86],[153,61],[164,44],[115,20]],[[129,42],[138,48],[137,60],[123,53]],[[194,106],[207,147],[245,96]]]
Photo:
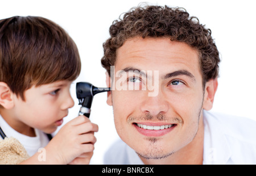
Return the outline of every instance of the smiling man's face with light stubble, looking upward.
[[[117,51],[114,76],[108,103],[113,105],[115,128],[142,158],[170,156],[191,143],[203,126],[199,56],[187,44],[167,38],[129,39]],[[154,90],[148,82],[155,83]]]

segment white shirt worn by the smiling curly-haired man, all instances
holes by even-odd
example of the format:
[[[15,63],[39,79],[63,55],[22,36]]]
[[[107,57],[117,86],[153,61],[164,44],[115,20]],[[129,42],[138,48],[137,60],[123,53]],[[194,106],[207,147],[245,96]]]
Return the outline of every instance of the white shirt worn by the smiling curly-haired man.
[[[203,164],[256,164],[256,121],[204,111]],[[143,164],[121,139],[106,152],[104,164]]]

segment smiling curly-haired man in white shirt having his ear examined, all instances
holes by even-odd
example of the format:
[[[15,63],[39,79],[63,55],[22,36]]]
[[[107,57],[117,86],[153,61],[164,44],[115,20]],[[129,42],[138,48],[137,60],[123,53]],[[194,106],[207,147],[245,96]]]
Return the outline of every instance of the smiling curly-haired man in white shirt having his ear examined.
[[[220,58],[196,17],[137,7],[109,31],[101,63],[122,141],[105,164],[256,164],[255,121],[207,112]]]

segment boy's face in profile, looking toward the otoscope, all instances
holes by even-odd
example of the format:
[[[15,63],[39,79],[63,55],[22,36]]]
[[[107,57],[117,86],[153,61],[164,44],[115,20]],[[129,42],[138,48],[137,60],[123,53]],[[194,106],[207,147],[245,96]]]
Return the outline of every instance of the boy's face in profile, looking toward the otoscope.
[[[32,86],[24,92],[25,101],[14,96],[13,117],[28,127],[54,132],[68,115],[68,108],[74,106],[70,86],[69,81]]]

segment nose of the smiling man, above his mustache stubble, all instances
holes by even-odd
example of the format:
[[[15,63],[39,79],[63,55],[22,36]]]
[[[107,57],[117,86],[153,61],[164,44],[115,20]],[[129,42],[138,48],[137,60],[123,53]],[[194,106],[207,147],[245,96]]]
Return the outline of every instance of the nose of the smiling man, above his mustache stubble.
[[[158,95],[150,97],[145,95],[141,104],[141,111],[150,113],[152,116],[158,115],[160,112],[165,113],[168,111],[168,102],[163,92],[159,90]]]

